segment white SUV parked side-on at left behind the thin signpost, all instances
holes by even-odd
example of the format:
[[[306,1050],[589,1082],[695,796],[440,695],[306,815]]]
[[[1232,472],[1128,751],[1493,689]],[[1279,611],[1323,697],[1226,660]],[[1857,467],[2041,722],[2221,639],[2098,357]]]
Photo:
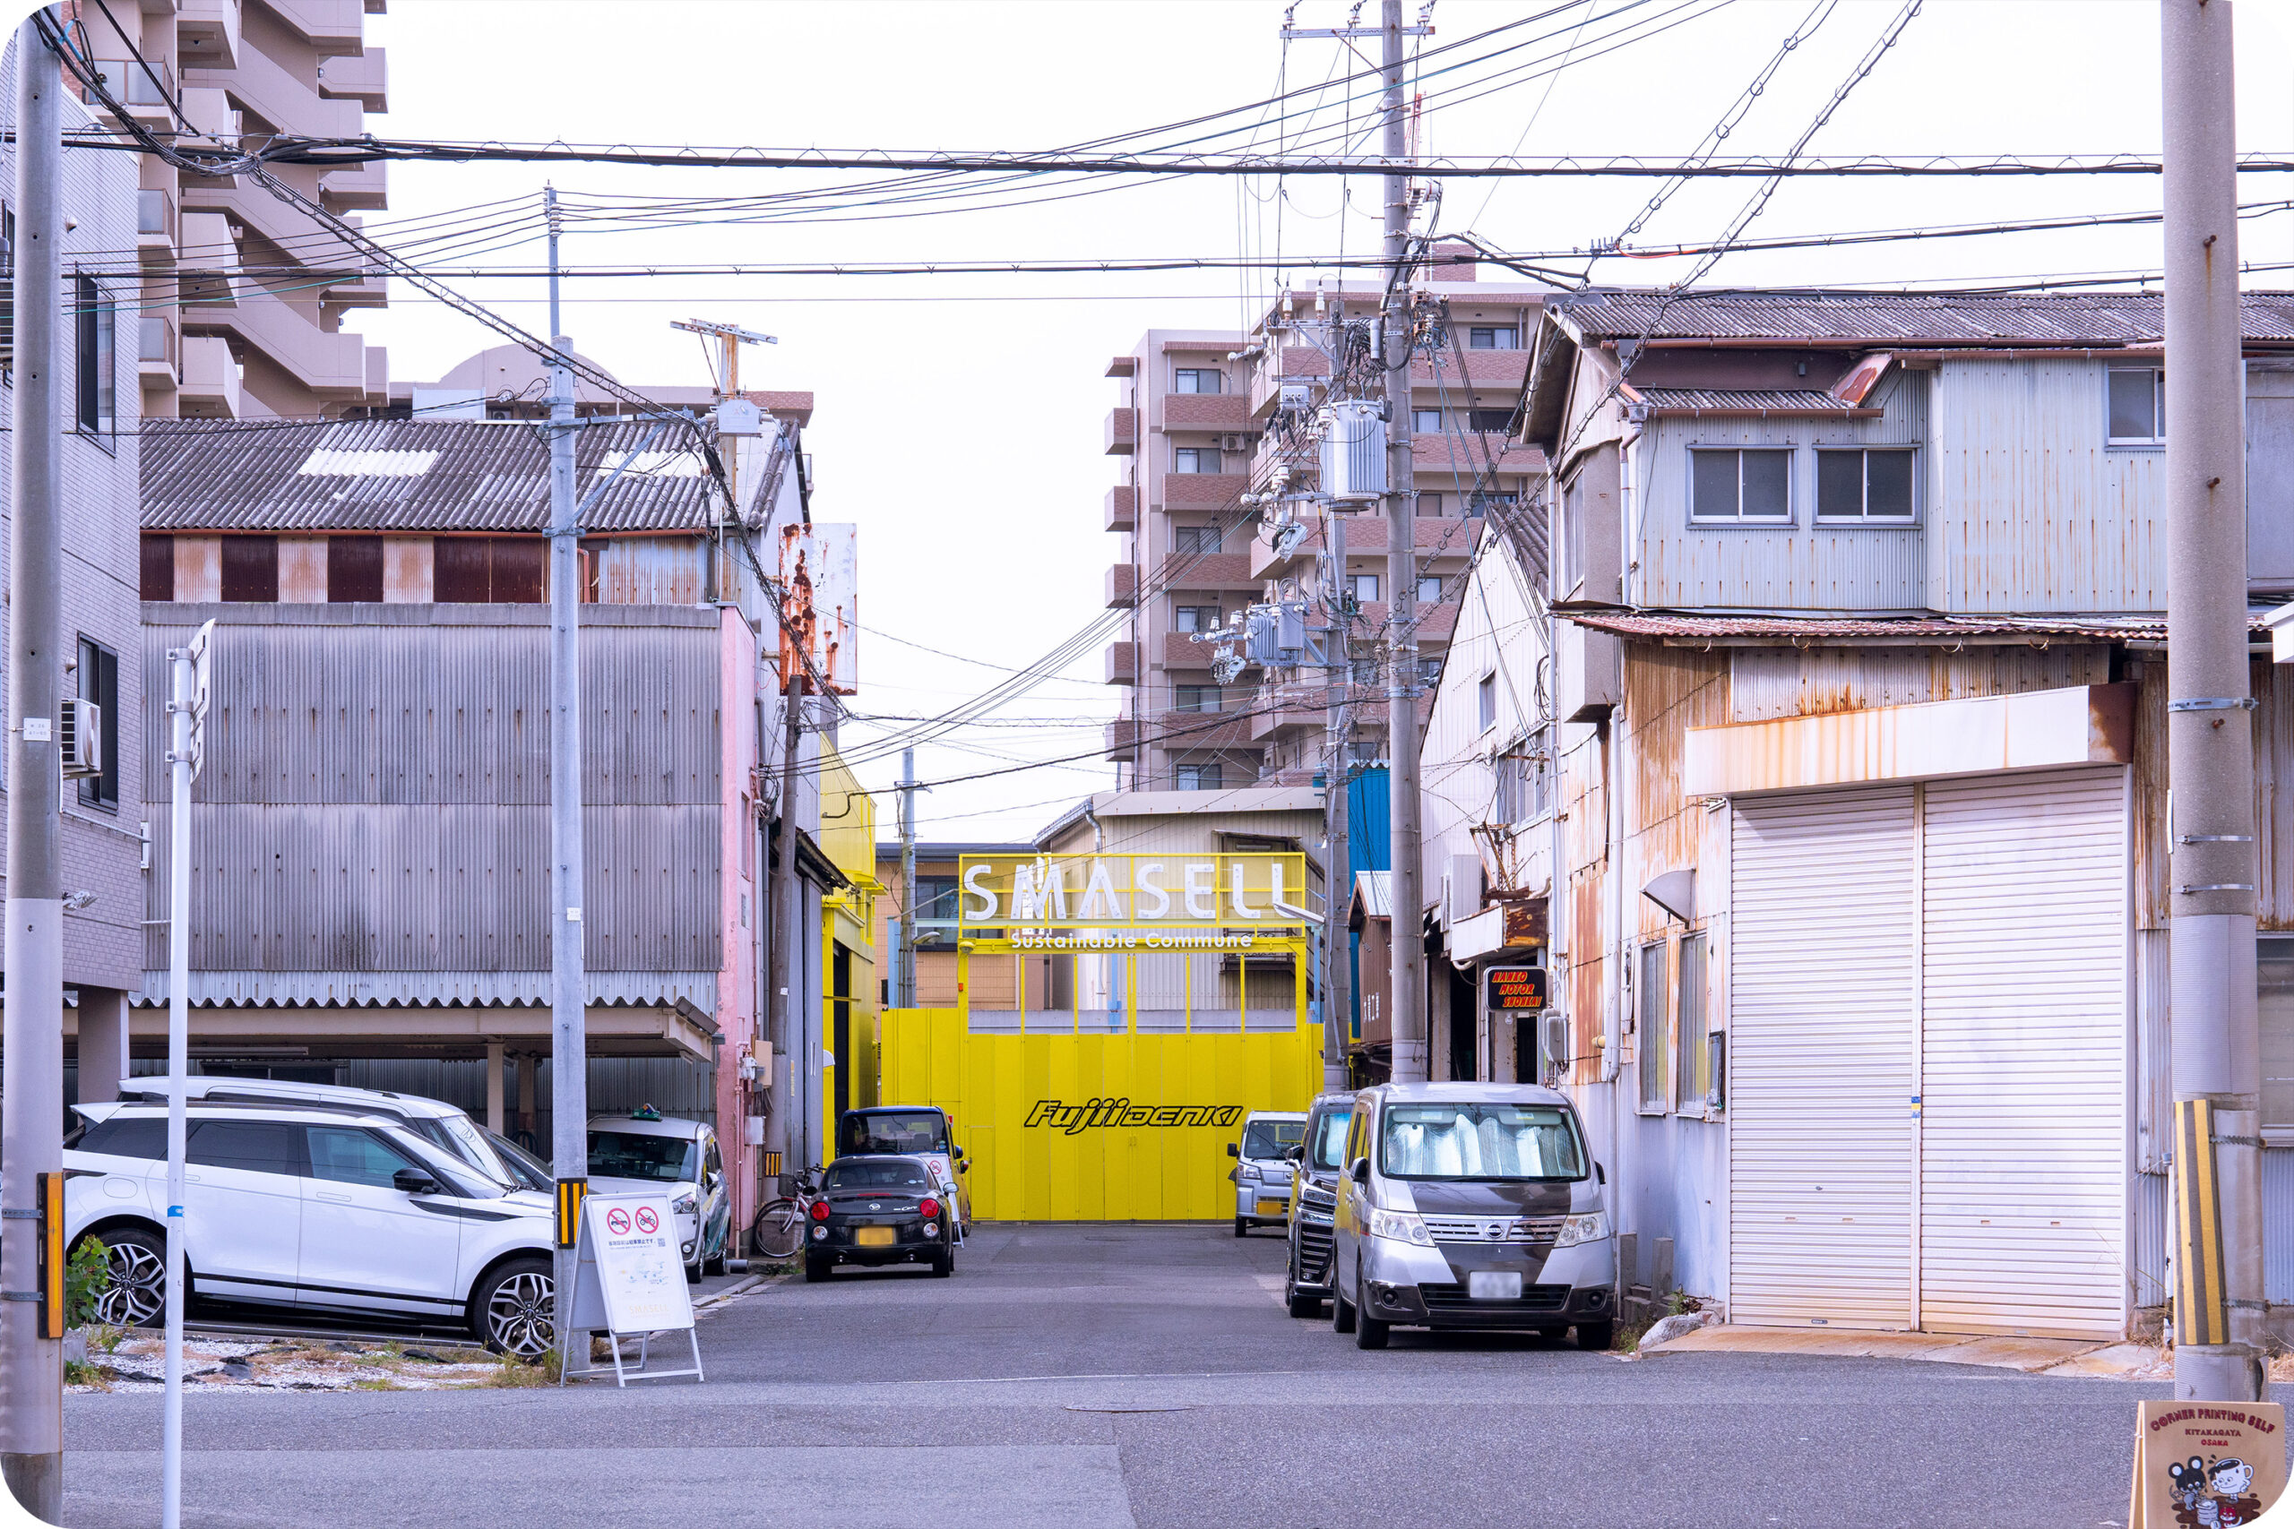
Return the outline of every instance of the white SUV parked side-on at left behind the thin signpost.
[[[67,1139],[64,1236],[110,1249],[108,1323],[165,1304],[167,1112],[106,1105]],[[188,1105],[188,1295],[466,1323],[521,1357],[553,1341],[553,1210],[381,1114]]]

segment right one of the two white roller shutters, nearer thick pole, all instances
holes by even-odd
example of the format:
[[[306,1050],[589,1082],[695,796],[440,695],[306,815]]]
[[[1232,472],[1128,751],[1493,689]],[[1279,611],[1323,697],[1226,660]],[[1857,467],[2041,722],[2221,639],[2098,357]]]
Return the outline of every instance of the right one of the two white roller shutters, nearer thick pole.
[[[2122,770],[1925,802],[1920,1325],[2127,1330]]]

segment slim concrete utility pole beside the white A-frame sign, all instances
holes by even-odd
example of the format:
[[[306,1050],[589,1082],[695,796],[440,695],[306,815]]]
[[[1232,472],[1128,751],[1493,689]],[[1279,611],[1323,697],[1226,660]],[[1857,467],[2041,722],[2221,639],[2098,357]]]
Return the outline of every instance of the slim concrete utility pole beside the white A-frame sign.
[[[590,1359],[574,1332],[580,1199],[590,1190],[590,977],[583,951],[580,841],[580,511],[574,497],[574,353],[557,312],[557,190],[544,188],[551,225],[551,1176],[557,1181],[557,1352],[564,1369]],[[578,1346],[578,1348],[576,1348]]]

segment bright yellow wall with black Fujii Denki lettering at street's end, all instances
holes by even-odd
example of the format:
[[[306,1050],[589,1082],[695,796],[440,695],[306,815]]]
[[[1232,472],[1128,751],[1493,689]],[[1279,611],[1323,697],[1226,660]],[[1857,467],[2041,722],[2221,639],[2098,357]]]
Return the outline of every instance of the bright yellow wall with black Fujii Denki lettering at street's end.
[[[984,963],[975,960],[973,972]],[[977,1220],[1218,1222],[1253,1109],[1305,1109],[1321,1034],[970,1034],[961,1009],[883,1013],[883,1098],[938,1105],[973,1162]],[[1225,1107],[1209,1126],[1030,1126],[1039,1105]]]

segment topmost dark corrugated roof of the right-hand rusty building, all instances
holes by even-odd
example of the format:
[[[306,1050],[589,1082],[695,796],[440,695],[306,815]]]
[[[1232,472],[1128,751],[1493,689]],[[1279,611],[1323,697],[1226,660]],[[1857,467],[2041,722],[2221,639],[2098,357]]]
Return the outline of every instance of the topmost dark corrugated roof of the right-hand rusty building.
[[[1952,291],[1659,291],[1594,289],[1551,309],[1592,337],[1776,339],[1872,346],[2154,346],[2154,291],[1982,296]],[[2294,342],[2294,293],[2241,298],[2246,337]],[[1654,326],[1654,328],[1652,328]]]

